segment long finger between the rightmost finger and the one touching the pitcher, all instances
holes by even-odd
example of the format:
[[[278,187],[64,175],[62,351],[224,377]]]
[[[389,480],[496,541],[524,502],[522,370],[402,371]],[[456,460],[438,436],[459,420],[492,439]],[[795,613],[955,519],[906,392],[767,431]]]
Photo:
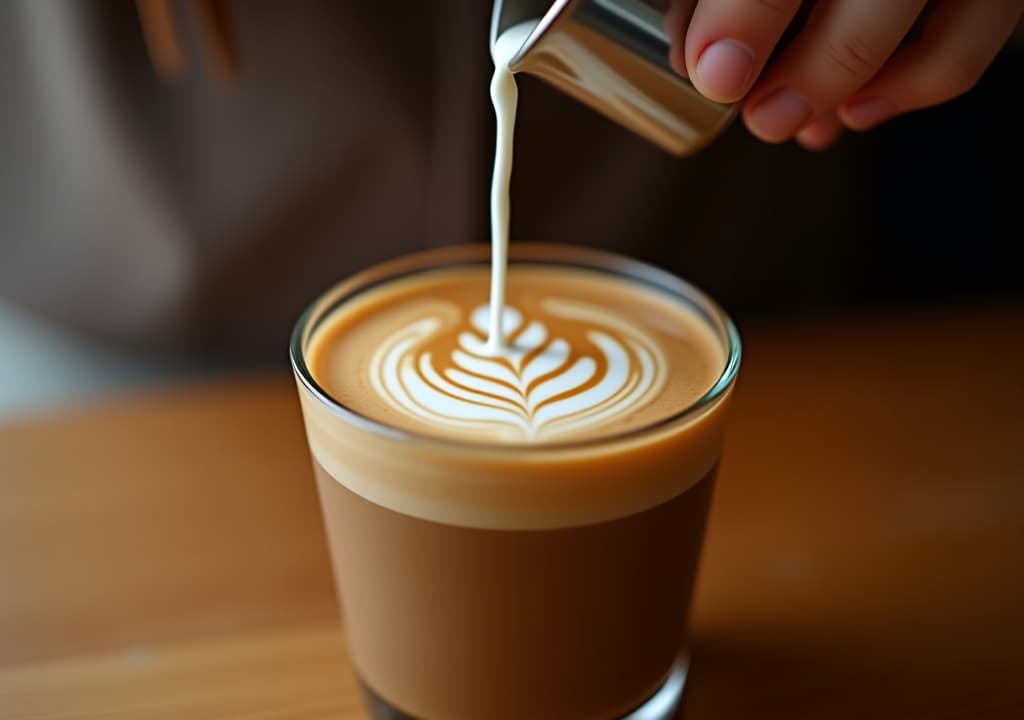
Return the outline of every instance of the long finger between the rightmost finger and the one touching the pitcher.
[[[882,68],[927,0],[822,0],[746,99],[743,119],[769,142],[793,137]]]

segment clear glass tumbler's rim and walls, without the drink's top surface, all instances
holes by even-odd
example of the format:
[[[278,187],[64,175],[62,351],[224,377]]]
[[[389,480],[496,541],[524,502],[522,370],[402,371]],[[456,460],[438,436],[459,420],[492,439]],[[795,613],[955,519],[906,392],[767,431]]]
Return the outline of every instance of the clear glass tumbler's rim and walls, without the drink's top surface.
[[[616,435],[444,439],[343,406],[313,378],[306,353],[323,321],[361,293],[486,265],[488,248],[399,258],[316,300],[293,333],[292,367],[368,707],[379,719],[668,718],[685,682],[738,334],[699,290],[636,260],[520,244],[509,261],[596,270],[678,302],[707,323],[724,362],[696,401]]]

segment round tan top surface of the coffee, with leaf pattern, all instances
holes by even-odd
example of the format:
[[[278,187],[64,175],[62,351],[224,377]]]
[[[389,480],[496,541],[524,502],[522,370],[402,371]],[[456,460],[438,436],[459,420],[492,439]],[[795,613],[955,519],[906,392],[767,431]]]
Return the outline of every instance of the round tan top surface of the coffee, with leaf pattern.
[[[420,435],[486,444],[610,437],[666,420],[725,359],[669,295],[586,268],[519,263],[492,329],[485,264],[411,276],[318,329],[311,370],[342,406]]]

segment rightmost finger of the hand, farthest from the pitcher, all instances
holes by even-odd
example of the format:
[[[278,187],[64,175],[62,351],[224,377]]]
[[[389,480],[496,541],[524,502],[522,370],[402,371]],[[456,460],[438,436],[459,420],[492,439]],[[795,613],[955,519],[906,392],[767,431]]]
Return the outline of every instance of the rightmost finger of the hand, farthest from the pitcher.
[[[919,41],[901,48],[840,107],[843,122],[866,130],[889,118],[951,100],[970,90],[1024,14],[1020,0],[945,0]]]

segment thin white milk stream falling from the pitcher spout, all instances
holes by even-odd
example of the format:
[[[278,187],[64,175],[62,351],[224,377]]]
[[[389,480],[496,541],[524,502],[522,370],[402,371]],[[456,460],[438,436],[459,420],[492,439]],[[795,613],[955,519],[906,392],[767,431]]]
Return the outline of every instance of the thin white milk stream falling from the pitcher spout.
[[[505,348],[502,316],[505,311],[505,280],[509,248],[509,179],[512,176],[512,135],[515,131],[519,89],[509,70],[509,60],[519,51],[538,20],[526,20],[507,29],[495,41],[492,56],[495,75],[490,80],[490,101],[495,104],[498,137],[495,141],[495,171],[490,178],[490,314],[487,323],[487,352],[501,354]]]

